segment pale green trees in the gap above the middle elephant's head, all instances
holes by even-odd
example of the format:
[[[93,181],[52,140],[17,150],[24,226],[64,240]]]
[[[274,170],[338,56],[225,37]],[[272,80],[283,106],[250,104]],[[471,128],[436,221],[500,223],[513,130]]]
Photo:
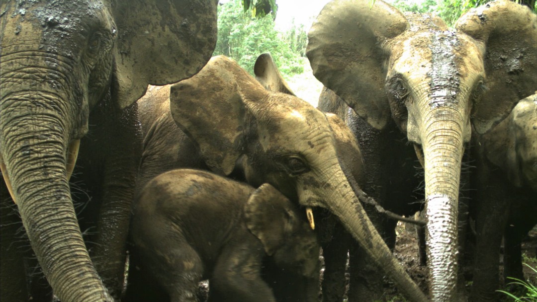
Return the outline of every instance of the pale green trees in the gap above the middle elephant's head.
[[[274,28],[274,20],[252,17],[241,8],[244,0],[231,0],[219,5],[218,39],[213,55],[233,58],[241,67],[253,75],[253,64],[258,55],[270,53],[284,75],[303,71],[306,48],[306,32],[294,27],[281,34]],[[303,34],[298,33],[299,28]],[[303,49],[302,49],[303,48]]]

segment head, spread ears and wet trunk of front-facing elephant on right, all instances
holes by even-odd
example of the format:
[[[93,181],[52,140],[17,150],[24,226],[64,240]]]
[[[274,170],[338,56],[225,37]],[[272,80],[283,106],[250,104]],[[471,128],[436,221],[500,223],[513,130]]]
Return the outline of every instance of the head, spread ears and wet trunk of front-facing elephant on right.
[[[533,93],[536,22],[526,7],[502,0],[469,11],[451,31],[436,17],[403,15],[382,1],[371,7],[365,0],[347,0],[327,4],[309,32],[314,75],[372,131],[397,131],[423,150],[434,301],[459,299],[464,145],[471,127],[487,131]]]

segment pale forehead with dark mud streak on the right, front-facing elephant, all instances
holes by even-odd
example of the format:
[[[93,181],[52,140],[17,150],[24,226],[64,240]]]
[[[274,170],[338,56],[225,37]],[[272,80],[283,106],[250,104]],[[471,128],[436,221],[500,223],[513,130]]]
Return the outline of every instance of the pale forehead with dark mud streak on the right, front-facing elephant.
[[[453,31],[420,31],[394,44],[393,70],[410,87],[426,92],[431,106],[451,106],[477,79],[484,77],[481,51],[465,35]],[[466,94],[464,94],[466,95]]]

